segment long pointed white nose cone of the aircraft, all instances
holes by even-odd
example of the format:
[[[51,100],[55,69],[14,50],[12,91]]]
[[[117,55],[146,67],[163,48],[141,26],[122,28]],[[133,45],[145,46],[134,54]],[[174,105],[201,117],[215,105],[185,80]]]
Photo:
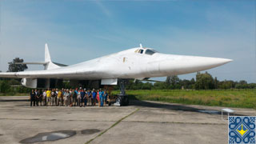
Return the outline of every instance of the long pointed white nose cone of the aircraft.
[[[222,66],[233,60],[227,58],[209,58],[194,56],[170,56],[160,63],[160,71],[165,74],[189,74]]]

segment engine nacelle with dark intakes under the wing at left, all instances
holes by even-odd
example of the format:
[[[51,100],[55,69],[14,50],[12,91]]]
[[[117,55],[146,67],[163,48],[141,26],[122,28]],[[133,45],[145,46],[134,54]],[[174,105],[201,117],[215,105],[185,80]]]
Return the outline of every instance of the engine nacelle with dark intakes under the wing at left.
[[[22,86],[29,88],[55,88],[57,83],[62,82],[58,79],[48,79],[48,78],[22,78]]]

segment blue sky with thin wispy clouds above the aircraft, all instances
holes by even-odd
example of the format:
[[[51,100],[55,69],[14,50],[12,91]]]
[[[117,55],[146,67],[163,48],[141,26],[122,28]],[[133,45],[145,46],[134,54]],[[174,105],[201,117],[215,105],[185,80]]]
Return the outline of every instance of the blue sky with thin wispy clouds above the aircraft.
[[[256,1],[0,1],[0,70],[7,62],[68,65],[132,47],[231,58],[207,70],[220,80],[256,82]],[[41,70],[42,66],[29,66]],[[180,75],[194,78],[195,74]]]

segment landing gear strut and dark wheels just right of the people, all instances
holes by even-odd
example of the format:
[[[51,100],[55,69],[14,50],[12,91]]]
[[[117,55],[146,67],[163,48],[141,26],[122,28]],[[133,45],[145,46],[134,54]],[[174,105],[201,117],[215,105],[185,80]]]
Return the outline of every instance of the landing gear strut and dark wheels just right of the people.
[[[126,83],[128,80],[121,79],[119,80],[119,86],[120,86],[120,94],[118,94],[118,98],[115,100],[114,106],[128,106],[129,104],[129,98],[126,94]]]

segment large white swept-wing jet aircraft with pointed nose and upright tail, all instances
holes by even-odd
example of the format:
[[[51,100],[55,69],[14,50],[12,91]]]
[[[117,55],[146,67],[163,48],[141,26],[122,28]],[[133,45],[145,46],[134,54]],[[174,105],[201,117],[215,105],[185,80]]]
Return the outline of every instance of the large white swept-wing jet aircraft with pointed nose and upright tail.
[[[117,85],[120,83],[121,94],[117,101],[126,105],[125,80],[147,80],[178,74],[189,74],[221,66],[231,59],[195,57],[174,54],[162,54],[151,48],[136,47],[129,50],[95,58],[71,66],[51,61],[47,44],[45,62],[23,62],[16,64],[41,64],[45,70],[0,73],[0,78],[22,78],[22,85],[30,88],[54,87],[62,80],[79,82],[84,80],[95,85]]]

